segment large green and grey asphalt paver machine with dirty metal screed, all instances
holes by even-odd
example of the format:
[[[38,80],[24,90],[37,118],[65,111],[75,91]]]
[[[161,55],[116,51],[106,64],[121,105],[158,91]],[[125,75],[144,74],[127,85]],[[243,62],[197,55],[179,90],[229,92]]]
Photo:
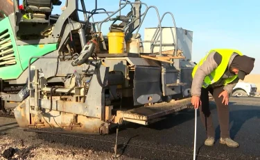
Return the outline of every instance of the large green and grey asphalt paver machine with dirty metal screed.
[[[191,105],[192,31],[139,0],[119,1],[116,11],[94,2],[89,10],[83,0],[13,1],[13,12],[3,14],[1,109],[13,109],[19,127],[109,134],[123,122],[149,125]],[[63,6],[60,15],[53,6]],[[151,9],[158,24],[142,38]],[[95,21],[97,14],[104,19]],[[173,27],[161,25],[165,15]]]

